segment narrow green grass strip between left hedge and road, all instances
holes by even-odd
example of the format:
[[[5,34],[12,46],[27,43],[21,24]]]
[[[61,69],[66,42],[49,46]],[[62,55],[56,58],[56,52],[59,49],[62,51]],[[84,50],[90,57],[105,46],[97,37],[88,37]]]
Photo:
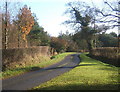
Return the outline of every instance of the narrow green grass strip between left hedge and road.
[[[12,76],[16,76],[25,72],[30,72],[30,71],[34,71],[34,70],[38,70],[40,68],[44,68],[47,67],[49,65],[55,64],[61,60],[63,60],[67,55],[69,54],[74,54],[74,52],[68,52],[68,53],[62,53],[62,54],[58,54],[55,55],[53,59],[43,59],[45,61],[40,62],[39,64],[34,64],[34,65],[30,65],[30,66],[25,66],[25,67],[19,67],[19,68],[15,68],[15,69],[10,69],[10,70],[6,70],[4,72],[0,73],[0,78],[9,78]]]

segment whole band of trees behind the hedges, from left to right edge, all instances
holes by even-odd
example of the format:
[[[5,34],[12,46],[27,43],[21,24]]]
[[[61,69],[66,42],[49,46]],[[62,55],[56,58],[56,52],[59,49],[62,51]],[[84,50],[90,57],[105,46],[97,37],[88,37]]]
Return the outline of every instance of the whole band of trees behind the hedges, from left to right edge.
[[[117,2],[117,7],[105,2],[111,12],[90,7],[84,2],[74,1],[68,3],[66,14],[69,14],[70,20],[65,21],[65,23],[70,25],[75,33],[61,33],[58,37],[50,37],[37,22],[36,15],[32,14],[30,8],[26,5],[21,9],[18,6],[19,9],[13,12],[13,17],[12,12],[9,10],[9,3],[6,2],[5,4],[4,12],[0,12],[2,15],[3,48],[42,45],[51,46],[57,52],[64,52],[79,51],[80,49],[91,50],[94,47],[101,46],[117,46],[117,34],[114,32],[106,34],[109,26],[105,24],[98,26],[95,21],[98,22],[101,18],[99,21],[101,23],[115,23],[113,26],[119,26],[119,2]],[[100,17],[97,19],[95,15]],[[25,46],[22,46],[21,43]]]

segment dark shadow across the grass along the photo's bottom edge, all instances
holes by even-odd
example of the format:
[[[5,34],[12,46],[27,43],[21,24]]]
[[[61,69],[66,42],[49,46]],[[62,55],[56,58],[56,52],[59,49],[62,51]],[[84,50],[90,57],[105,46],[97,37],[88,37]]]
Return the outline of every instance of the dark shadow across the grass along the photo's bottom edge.
[[[35,89],[34,89],[35,90]],[[89,90],[94,90],[95,92],[98,91],[108,91],[111,92],[113,91],[118,91],[119,90],[119,85],[117,84],[96,84],[96,85],[89,85],[89,84],[63,84],[63,85],[52,85],[49,87],[44,87],[44,88],[39,88],[37,90],[84,90],[84,91],[89,91]],[[83,91],[82,91],[83,92]]]

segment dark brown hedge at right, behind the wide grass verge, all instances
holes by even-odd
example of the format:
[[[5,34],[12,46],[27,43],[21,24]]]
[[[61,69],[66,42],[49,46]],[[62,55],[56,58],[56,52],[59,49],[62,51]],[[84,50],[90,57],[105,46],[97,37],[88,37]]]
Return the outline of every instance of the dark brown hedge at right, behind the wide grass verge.
[[[120,66],[120,48],[118,47],[101,47],[92,49],[90,55],[109,62],[110,64]]]

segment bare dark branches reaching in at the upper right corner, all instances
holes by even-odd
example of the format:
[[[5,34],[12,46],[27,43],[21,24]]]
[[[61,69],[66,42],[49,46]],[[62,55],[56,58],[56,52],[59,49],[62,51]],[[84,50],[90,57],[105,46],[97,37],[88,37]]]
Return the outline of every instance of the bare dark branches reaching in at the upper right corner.
[[[116,1],[113,4],[107,1],[104,1],[106,9],[96,9],[99,15],[102,15],[99,19],[99,22],[109,23],[111,27],[120,26],[120,2]]]

